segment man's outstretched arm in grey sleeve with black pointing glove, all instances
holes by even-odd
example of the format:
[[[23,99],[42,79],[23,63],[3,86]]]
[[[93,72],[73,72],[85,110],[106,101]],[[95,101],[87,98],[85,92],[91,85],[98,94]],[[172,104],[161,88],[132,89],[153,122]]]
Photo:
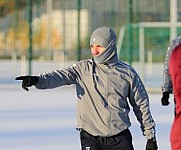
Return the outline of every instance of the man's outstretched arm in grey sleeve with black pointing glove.
[[[37,89],[51,89],[63,85],[76,84],[78,77],[80,77],[80,69],[76,65],[72,65],[62,70],[37,76],[20,76],[16,80],[22,80],[22,88],[28,91],[28,88],[33,85]]]

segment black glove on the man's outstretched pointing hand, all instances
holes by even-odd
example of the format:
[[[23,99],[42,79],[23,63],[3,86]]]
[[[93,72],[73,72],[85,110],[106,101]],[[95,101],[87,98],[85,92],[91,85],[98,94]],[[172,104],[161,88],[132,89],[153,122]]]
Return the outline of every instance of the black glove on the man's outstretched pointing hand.
[[[28,87],[36,85],[38,83],[39,78],[37,76],[20,76],[16,77],[15,80],[23,80],[22,88],[26,91],[29,91]]]

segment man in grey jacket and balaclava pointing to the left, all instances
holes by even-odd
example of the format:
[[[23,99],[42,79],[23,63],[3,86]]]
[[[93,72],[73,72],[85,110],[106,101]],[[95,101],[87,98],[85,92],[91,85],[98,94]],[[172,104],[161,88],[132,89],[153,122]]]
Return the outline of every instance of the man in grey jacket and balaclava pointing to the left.
[[[77,129],[82,150],[133,150],[131,105],[147,138],[146,150],[157,150],[149,97],[136,71],[118,60],[116,34],[99,27],[91,35],[93,59],[38,76],[20,76],[22,87],[50,89],[75,84]]]

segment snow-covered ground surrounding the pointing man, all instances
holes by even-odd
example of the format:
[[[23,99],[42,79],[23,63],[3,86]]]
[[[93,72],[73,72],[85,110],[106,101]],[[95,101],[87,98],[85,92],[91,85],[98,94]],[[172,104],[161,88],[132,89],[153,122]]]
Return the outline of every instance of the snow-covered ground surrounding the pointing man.
[[[79,150],[74,86],[53,90],[31,88],[26,92],[20,82],[14,81],[14,77],[21,74],[17,69],[19,64],[7,64],[0,63],[0,150]],[[58,65],[48,66],[37,65],[39,69],[34,73],[58,68]],[[149,93],[149,96],[159,150],[170,150],[173,102],[163,107],[160,104],[161,93]],[[135,150],[144,150],[146,138],[132,110],[130,117]]]

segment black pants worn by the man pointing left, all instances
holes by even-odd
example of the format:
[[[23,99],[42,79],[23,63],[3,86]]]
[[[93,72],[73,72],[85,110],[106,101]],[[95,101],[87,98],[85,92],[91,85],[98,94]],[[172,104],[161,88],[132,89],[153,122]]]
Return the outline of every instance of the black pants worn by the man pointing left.
[[[92,136],[82,130],[80,140],[82,150],[134,150],[128,129],[111,137]]]

